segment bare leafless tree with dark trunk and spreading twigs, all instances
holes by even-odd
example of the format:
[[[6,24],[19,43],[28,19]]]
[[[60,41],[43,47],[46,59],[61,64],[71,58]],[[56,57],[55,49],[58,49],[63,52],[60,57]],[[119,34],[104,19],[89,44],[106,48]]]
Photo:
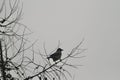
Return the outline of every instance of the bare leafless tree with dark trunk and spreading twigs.
[[[65,68],[80,65],[68,63],[70,59],[82,58],[85,51],[83,40],[64,58],[51,63],[44,45],[44,53],[35,50],[27,36],[31,30],[20,23],[22,8],[20,0],[3,0],[0,6],[0,80],[64,80],[71,73]],[[29,45],[30,44],[30,45]],[[57,49],[59,48],[59,44]],[[39,58],[36,58],[39,57]]]

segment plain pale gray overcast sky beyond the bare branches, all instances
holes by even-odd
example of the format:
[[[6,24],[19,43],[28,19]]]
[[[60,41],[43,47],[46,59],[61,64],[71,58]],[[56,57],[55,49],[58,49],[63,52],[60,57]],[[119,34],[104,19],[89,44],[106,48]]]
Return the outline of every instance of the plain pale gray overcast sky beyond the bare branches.
[[[22,22],[53,50],[67,52],[85,38],[87,57],[75,80],[120,80],[120,0],[24,0]]]

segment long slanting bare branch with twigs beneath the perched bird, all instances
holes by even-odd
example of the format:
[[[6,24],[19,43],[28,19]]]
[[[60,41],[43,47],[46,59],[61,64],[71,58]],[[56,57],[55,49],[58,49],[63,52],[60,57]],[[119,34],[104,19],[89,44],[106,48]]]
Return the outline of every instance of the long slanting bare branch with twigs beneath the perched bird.
[[[50,64],[49,62],[48,62],[48,65],[50,65],[49,67],[45,67],[45,69],[43,69],[41,72],[39,72],[39,73],[37,73],[37,74],[35,74],[35,75],[33,75],[33,76],[28,76],[26,79],[24,79],[24,80],[29,80],[29,79],[32,79],[32,78],[34,78],[34,77],[36,77],[36,76],[39,76],[39,75],[41,75],[41,74],[43,74],[43,73],[47,73],[47,74],[50,74],[50,73],[52,73],[52,74],[55,74],[56,76],[57,76],[57,79],[59,79],[60,80],[60,75],[59,75],[59,73],[61,73],[64,77],[65,77],[65,74],[64,74],[64,72],[66,72],[66,73],[68,73],[69,74],[69,76],[71,76],[71,74],[69,73],[69,71],[67,71],[66,69],[64,69],[63,68],[63,66],[70,66],[70,67],[73,67],[73,68],[77,68],[77,65],[72,65],[72,64],[69,64],[69,63],[67,63],[67,59],[69,59],[69,58],[74,58],[74,56],[77,56],[77,55],[79,55],[79,54],[81,54],[81,53],[75,53],[77,50],[79,50],[79,47],[80,47],[80,45],[83,43],[83,41],[81,41],[81,43],[79,44],[79,45],[77,45],[75,48],[73,48],[72,49],[72,51],[70,52],[70,54],[68,54],[66,57],[64,57],[63,59],[61,59],[61,60],[59,60],[59,61],[57,61],[57,62],[55,62],[54,64]],[[47,53],[45,53],[45,54],[47,54]],[[43,56],[43,55],[42,55]],[[79,58],[82,58],[82,57],[79,57]],[[44,58],[45,59],[45,58]],[[63,62],[64,60],[66,60],[65,62]],[[61,66],[57,66],[57,64],[59,64],[59,63],[63,63]],[[46,64],[47,65],[47,64]],[[80,66],[80,65],[79,65]],[[62,72],[62,71],[63,72]],[[54,72],[54,73],[53,73]],[[52,75],[52,74],[50,74],[50,75]],[[53,78],[54,78],[54,76],[52,76]],[[67,79],[67,78],[66,78]]]

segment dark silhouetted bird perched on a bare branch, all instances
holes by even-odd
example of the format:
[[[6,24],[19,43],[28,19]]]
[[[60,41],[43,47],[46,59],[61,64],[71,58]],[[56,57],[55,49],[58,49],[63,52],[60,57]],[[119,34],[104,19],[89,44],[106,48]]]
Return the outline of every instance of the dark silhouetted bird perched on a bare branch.
[[[55,53],[51,54],[49,57],[47,57],[47,59],[49,60],[50,58],[52,58],[54,62],[57,60],[61,60],[62,51],[63,51],[63,49],[58,48],[57,51]]]

